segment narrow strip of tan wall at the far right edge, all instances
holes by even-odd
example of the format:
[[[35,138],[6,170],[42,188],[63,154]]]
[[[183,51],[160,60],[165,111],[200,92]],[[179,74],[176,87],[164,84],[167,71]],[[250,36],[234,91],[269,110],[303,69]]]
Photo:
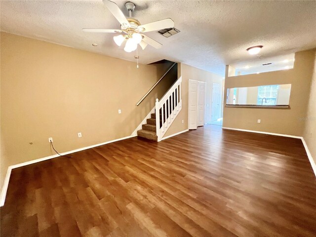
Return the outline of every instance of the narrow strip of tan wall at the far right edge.
[[[316,55],[315,55],[316,56]],[[316,60],[311,81],[303,137],[316,162]]]

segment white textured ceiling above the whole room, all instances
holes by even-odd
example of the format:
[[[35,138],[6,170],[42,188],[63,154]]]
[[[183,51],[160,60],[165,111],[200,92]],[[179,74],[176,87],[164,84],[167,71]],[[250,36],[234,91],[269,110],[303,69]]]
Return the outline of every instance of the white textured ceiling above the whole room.
[[[128,15],[127,0],[114,1]],[[256,58],[246,52],[253,45],[264,45],[261,54],[266,58],[316,47],[316,1],[133,2],[133,16],[142,24],[170,17],[181,31],[170,38],[146,33],[163,47],[139,50],[144,64],[167,59],[224,76],[226,64]],[[1,31],[135,60],[135,52],[119,49],[112,34],[81,31],[119,29],[101,0],[1,0],[0,4]]]

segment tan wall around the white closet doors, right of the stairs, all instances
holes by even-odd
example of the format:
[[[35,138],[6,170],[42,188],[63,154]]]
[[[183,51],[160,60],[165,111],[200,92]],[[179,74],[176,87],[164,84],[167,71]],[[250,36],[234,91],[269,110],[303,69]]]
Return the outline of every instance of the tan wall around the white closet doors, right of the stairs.
[[[208,107],[205,108],[206,122],[209,122],[211,119],[212,83],[218,83],[220,88],[222,88],[223,78],[219,75],[206,72],[183,63],[179,64],[179,67],[180,69],[178,69],[178,72],[180,72],[182,76],[182,109],[164,136],[169,136],[188,129],[189,79],[206,82],[206,104],[208,104]],[[182,123],[182,120],[184,123]]]

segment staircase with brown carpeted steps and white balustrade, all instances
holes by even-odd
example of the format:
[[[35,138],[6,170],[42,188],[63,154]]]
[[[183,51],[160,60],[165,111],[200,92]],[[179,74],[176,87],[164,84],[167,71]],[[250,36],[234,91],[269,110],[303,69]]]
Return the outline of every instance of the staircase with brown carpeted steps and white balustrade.
[[[182,108],[181,100],[182,78],[177,79],[164,96],[156,99],[155,113],[146,120],[142,129],[137,131],[137,136],[153,141],[161,141],[161,138],[177,117]],[[159,118],[159,119],[157,119]]]

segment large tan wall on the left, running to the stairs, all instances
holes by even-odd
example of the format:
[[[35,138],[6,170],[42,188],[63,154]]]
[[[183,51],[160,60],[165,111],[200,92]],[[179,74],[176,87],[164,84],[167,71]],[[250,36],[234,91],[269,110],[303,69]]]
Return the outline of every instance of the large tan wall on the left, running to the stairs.
[[[48,137],[62,153],[131,135],[172,83],[159,83],[136,107],[170,63],[137,69],[134,62],[7,33],[0,50],[1,187],[8,165],[55,154]]]

